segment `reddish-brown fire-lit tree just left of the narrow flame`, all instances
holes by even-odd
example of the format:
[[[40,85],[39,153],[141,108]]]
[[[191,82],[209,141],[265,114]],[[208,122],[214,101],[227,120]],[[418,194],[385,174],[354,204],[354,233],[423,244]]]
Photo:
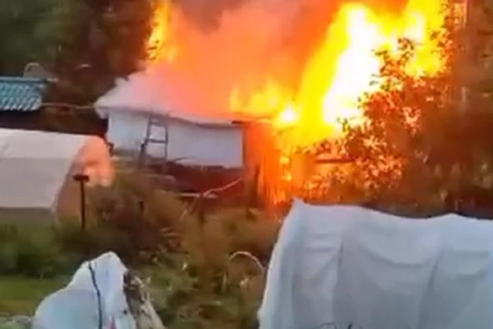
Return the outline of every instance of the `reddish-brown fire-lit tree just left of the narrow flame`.
[[[64,1],[80,8],[78,28],[61,47],[55,72],[66,81],[62,94],[87,104],[107,91],[116,77],[142,68],[155,2]]]

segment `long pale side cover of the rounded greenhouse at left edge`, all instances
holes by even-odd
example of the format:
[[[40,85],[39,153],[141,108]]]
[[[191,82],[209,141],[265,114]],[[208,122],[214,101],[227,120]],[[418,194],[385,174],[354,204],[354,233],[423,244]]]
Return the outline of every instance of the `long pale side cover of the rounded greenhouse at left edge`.
[[[88,138],[0,129],[0,209],[52,208]]]

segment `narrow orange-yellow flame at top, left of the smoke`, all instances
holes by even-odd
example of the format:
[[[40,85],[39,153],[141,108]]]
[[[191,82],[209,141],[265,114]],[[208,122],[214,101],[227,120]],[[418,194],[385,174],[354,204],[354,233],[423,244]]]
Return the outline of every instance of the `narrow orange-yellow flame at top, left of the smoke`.
[[[172,33],[172,3],[170,0],[157,0],[151,19],[152,29],[147,40],[147,62],[172,62],[178,54],[177,44]]]

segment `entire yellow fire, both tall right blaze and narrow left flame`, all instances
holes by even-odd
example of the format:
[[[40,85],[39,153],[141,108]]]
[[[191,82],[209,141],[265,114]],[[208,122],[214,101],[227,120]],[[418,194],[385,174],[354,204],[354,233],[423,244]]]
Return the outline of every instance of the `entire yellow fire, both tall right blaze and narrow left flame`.
[[[156,10],[151,44],[162,45],[172,39],[169,11],[167,2]],[[283,136],[278,138],[279,148],[306,147],[340,138],[344,122],[358,125],[365,120],[358,108],[359,98],[381,88],[376,50],[396,50],[400,38],[409,38],[418,45],[407,68],[410,74],[429,75],[443,68],[444,59],[437,52],[432,32],[442,28],[444,19],[442,0],[409,0],[399,12],[374,9],[367,2],[345,2],[327,22],[325,38],[309,56],[299,81],[287,86],[266,74],[254,90],[241,83],[231,86],[231,92],[224,95],[224,104],[233,112],[270,117],[277,136]],[[160,47],[149,58],[170,61],[176,56],[176,48]],[[276,161],[283,164],[290,160],[279,155]],[[284,173],[283,178],[291,181],[293,173]],[[278,183],[279,177],[276,179]]]

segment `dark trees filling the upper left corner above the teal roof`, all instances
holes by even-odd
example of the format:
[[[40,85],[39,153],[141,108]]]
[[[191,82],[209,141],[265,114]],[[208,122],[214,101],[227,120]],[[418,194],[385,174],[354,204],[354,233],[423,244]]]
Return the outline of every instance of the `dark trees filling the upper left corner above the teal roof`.
[[[64,100],[92,101],[140,68],[152,10],[153,0],[3,0],[0,74],[37,61],[62,79]]]

